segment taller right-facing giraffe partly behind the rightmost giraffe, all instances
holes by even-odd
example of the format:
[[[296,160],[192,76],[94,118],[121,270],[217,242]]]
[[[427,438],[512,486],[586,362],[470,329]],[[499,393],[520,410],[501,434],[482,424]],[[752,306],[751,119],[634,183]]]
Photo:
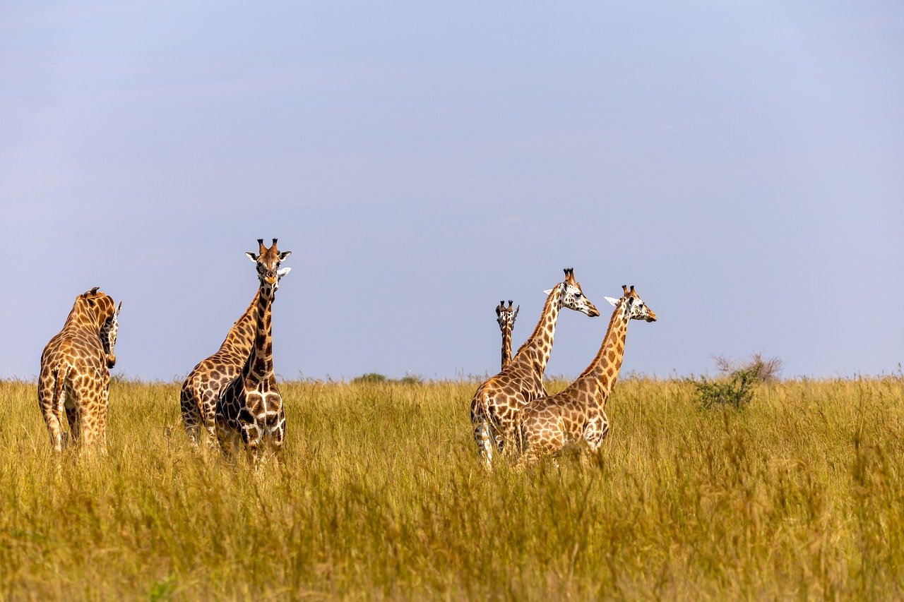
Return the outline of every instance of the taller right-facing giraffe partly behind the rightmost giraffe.
[[[574,269],[565,268],[565,280],[550,290],[546,303],[531,336],[502,372],[477,388],[471,400],[471,424],[474,440],[487,468],[493,466],[493,448],[504,451],[512,441],[514,419],[529,401],[546,396],[543,371],[552,351],[552,336],[561,307],[568,307],[584,315],[599,315],[597,308],[584,296]],[[493,437],[494,443],[491,443]]]

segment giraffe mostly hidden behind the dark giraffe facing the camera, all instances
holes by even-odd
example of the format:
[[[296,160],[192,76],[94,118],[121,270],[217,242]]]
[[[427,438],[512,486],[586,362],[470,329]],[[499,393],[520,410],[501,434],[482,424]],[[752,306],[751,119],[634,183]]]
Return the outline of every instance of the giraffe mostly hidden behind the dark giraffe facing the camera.
[[[216,445],[214,422],[217,400],[226,385],[239,376],[242,366],[251,354],[258,319],[259,296],[259,292],[254,294],[250,306],[232,325],[217,353],[198,362],[182,383],[182,391],[179,394],[182,422],[195,447],[201,441],[202,426],[207,429],[207,442]]]

